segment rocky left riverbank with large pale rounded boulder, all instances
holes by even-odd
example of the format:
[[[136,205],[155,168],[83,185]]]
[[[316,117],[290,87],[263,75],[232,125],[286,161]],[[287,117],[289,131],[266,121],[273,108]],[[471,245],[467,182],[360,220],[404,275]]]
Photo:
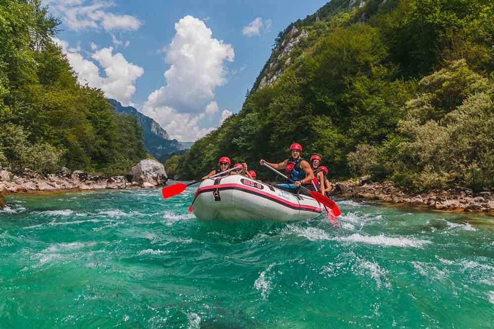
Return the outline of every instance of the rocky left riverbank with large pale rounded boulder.
[[[19,192],[56,190],[124,189],[127,187],[154,187],[166,184],[163,164],[145,159],[136,164],[126,176],[89,175],[85,171],[70,171],[62,167],[55,174],[41,175],[29,169],[20,175],[0,168],[0,209],[5,205],[3,195]]]

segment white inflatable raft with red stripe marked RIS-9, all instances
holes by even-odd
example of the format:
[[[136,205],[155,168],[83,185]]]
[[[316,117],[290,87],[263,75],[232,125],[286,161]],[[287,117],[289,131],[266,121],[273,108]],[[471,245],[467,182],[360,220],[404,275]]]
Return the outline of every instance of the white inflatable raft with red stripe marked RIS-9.
[[[319,216],[324,206],[240,175],[207,179],[196,191],[193,212],[201,220],[295,221]]]

